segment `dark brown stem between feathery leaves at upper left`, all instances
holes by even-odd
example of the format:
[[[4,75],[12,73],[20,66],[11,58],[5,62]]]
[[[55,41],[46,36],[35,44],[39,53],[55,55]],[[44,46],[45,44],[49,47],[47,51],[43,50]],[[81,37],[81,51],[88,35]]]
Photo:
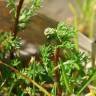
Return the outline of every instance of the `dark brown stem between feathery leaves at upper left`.
[[[18,26],[18,23],[19,23],[19,16],[20,16],[20,11],[21,11],[23,2],[24,2],[24,0],[20,0],[20,1],[19,1],[19,4],[18,4],[18,6],[17,6],[16,18],[15,18],[15,23],[14,23],[14,27],[13,27],[13,35],[14,35],[14,38],[15,38],[16,35],[17,35],[17,31],[18,31],[18,30],[17,30],[17,26]]]

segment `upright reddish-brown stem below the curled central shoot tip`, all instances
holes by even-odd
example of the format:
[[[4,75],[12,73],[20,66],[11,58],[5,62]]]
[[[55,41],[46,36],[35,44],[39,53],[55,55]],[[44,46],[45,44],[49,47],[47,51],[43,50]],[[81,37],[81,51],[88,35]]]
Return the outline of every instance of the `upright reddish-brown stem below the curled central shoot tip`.
[[[56,53],[54,55],[54,65],[55,67],[58,66],[58,61],[59,61],[59,55],[60,55],[60,49],[56,48]],[[55,70],[55,81],[57,83],[57,95],[56,96],[62,96],[62,89],[60,84],[58,83],[60,80],[60,74],[59,74],[59,69]]]

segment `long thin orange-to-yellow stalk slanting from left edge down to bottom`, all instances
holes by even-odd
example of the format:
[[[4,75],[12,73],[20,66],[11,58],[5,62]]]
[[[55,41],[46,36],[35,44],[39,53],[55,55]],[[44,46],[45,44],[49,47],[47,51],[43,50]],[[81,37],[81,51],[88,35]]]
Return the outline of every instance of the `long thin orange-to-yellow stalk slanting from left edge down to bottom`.
[[[31,78],[27,77],[25,74],[20,73],[17,69],[15,69],[14,67],[0,61],[0,64],[8,67],[9,69],[11,69],[12,71],[14,71],[15,73],[17,73],[18,75],[22,76],[23,78],[25,78],[26,80],[28,80],[29,82],[31,82],[32,84],[34,84],[37,88],[39,88],[39,90],[41,90],[43,93],[45,93],[47,96],[51,96],[51,94],[46,91],[43,87],[41,87],[39,84],[37,84],[34,80],[32,80]]]

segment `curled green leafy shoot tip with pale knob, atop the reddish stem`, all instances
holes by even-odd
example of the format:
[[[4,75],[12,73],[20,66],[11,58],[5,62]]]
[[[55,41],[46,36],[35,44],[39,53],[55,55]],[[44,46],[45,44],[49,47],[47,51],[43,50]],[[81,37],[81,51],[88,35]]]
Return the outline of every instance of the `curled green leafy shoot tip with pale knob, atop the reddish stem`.
[[[57,47],[62,48],[73,48],[74,43],[71,43],[72,38],[75,35],[75,30],[73,27],[67,26],[64,23],[58,24],[56,29],[47,28],[44,32],[45,36],[52,44],[56,43]],[[69,49],[68,48],[68,49]]]

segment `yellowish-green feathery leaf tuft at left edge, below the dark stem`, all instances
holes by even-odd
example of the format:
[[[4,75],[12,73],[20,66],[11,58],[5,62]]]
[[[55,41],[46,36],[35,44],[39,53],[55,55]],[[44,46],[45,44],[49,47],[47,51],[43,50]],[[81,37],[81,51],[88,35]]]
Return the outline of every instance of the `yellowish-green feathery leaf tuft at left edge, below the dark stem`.
[[[19,37],[16,37],[14,39],[14,36],[11,34],[11,32],[1,32],[0,37],[0,44],[3,47],[4,51],[10,51],[12,50],[12,47],[19,49],[21,46],[21,39]]]

